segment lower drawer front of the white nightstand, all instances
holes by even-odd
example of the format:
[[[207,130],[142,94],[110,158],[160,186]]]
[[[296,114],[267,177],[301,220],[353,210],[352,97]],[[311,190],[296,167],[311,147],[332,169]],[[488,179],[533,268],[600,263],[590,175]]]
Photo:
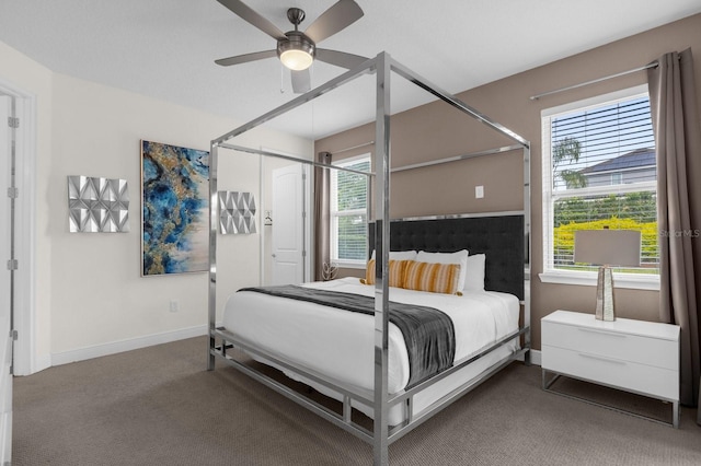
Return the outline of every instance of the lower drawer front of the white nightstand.
[[[542,368],[669,400],[679,399],[677,371],[543,345]]]

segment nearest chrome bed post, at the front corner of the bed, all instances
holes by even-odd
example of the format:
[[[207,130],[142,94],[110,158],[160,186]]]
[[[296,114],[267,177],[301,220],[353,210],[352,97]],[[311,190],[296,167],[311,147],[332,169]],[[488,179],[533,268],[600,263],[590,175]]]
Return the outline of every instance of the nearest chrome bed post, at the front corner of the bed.
[[[389,465],[388,325],[390,251],[390,57],[377,57],[377,118],[375,123],[375,428],[374,464]]]

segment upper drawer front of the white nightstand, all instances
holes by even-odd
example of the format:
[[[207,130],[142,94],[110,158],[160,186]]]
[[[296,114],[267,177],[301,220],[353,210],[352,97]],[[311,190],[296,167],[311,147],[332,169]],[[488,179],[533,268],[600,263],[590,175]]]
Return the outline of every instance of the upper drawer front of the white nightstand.
[[[677,371],[677,341],[542,322],[542,345]]]

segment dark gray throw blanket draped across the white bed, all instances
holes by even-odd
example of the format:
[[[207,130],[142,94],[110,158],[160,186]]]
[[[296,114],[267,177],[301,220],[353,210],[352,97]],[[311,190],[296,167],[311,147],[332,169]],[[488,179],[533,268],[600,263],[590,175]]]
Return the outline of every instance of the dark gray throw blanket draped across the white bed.
[[[296,287],[243,288],[273,296],[308,301],[324,306],[375,314],[375,298],[337,291]],[[410,377],[406,388],[450,368],[456,354],[456,333],[452,321],[443,311],[433,307],[390,301],[389,319],[404,336],[409,352]]]

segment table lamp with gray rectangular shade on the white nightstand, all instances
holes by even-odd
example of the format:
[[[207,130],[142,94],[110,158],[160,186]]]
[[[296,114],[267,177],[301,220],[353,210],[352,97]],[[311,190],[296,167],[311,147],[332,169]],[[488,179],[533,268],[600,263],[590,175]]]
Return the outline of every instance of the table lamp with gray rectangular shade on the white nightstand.
[[[596,318],[616,321],[610,266],[640,267],[639,231],[579,230],[574,233],[574,261],[597,265]]]

